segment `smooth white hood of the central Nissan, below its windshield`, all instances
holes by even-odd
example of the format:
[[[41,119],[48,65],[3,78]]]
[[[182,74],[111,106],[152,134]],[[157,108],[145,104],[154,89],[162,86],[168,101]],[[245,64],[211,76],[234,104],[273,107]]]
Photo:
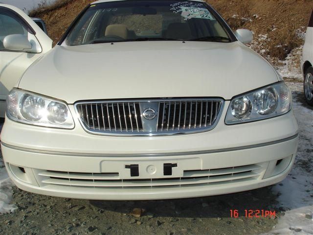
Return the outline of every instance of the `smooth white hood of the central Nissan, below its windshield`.
[[[19,88],[67,103],[89,99],[223,97],[277,82],[273,68],[239,42],[120,42],[56,46]]]

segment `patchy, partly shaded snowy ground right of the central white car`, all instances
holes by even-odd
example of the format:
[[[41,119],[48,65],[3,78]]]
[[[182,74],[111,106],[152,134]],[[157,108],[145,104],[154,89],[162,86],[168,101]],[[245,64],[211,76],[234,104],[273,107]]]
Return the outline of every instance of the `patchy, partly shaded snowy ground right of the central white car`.
[[[288,177],[273,187],[278,207],[286,210],[267,235],[313,235],[313,110],[303,106],[302,86],[288,83],[294,94],[293,112],[299,125],[299,146]],[[302,85],[302,84],[301,84]]]

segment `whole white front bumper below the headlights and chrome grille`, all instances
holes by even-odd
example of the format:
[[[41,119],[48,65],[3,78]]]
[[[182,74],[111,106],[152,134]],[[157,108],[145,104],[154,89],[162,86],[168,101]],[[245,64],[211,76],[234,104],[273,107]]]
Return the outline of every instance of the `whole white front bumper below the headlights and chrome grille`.
[[[73,130],[6,118],[1,150],[9,176],[19,188],[60,197],[186,198],[261,188],[283,180],[298,143],[293,113],[226,126],[225,112],[211,131],[163,137],[94,136],[75,117]],[[164,175],[164,164],[174,165],[171,175]],[[129,165],[138,165],[138,176],[131,176]]]

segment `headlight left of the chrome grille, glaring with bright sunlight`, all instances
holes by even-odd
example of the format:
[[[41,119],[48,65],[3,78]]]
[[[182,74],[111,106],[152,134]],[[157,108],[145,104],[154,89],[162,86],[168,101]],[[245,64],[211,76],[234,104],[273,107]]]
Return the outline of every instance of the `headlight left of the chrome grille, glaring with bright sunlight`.
[[[12,120],[38,126],[74,127],[67,104],[19,89],[9,93],[6,115]]]

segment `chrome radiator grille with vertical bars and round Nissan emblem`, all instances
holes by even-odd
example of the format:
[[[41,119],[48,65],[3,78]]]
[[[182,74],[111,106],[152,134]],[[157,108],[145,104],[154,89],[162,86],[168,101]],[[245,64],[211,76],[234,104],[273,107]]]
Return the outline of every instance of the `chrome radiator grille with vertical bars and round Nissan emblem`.
[[[100,135],[173,135],[208,131],[217,124],[221,98],[89,101],[75,104],[84,129]],[[154,110],[149,118],[142,114]],[[151,115],[155,114],[155,118]]]

